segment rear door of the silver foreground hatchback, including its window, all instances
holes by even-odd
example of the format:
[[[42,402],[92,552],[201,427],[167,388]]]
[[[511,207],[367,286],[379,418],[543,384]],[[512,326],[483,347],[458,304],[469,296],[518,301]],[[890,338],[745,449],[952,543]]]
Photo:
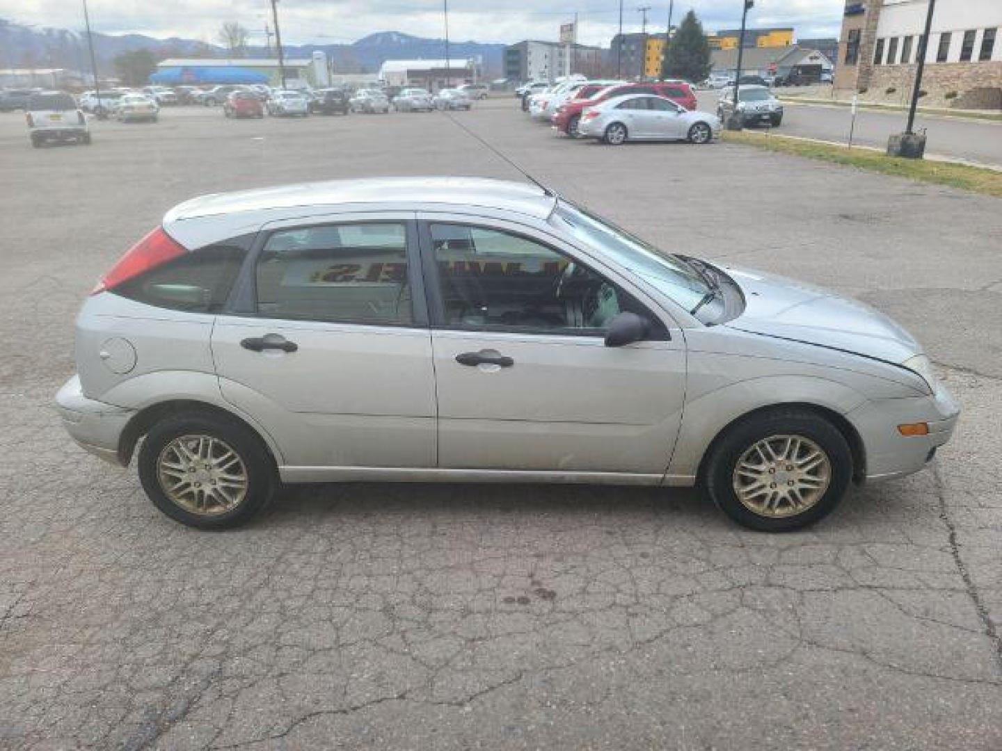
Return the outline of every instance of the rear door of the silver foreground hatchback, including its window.
[[[223,397],[288,465],[436,463],[435,381],[413,213],[266,227],[212,331]],[[321,472],[319,477],[324,477]]]

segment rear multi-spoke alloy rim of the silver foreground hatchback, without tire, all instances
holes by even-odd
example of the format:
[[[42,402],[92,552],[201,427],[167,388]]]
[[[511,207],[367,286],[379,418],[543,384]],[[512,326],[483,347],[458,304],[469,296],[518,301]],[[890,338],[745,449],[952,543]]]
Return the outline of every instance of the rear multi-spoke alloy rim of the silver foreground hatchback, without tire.
[[[157,458],[156,476],[171,503],[199,516],[232,511],[247,494],[243,460],[213,436],[180,436],[168,443]]]

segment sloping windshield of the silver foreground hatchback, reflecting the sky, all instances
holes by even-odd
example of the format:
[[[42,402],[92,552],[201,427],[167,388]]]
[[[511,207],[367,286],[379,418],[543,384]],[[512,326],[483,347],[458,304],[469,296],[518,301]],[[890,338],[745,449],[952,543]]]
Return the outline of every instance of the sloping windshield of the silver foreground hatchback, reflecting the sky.
[[[553,218],[571,234],[602,255],[628,268],[686,310],[694,308],[711,291],[694,266],[661,252],[638,237],[565,201]]]

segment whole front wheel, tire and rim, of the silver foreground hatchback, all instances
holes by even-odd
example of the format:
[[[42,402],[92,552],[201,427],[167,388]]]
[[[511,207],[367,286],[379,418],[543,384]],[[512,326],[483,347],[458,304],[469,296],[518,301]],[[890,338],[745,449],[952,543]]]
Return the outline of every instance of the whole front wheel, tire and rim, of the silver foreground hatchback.
[[[716,442],[703,482],[738,524],[791,532],[830,514],[852,475],[852,452],[838,428],[813,412],[784,409],[730,428]]]

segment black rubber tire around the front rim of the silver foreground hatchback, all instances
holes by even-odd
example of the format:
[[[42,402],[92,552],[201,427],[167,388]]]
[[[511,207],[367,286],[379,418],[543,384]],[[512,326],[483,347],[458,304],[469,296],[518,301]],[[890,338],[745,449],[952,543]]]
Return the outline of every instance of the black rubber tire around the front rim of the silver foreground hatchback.
[[[808,439],[820,448],[829,463],[828,487],[821,497],[804,511],[787,516],[757,513],[741,503],[734,491],[738,461],[758,442],[774,436]],[[790,408],[758,413],[727,429],[714,442],[702,483],[713,503],[742,527],[759,532],[793,532],[828,516],[842,501],[852,477],[853,455],[839,429],[814,412]],[[773,487],[775,484],[770,486]]]

